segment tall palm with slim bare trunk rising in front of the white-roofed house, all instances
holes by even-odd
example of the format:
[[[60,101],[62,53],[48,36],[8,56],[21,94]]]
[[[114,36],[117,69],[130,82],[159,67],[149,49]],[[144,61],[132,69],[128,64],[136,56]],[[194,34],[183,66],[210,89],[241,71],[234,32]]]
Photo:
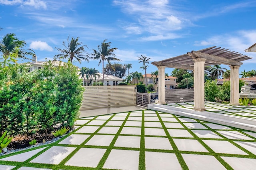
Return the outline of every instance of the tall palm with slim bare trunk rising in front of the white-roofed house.
[[[108,64],[111,65],[110,61],[121,61],[118,58],[115,58],[114,51],[117,48],[110,48],[111,42],[106,42],[107,40],[104,40],[101,45],[98,45],[98,51],[96,49],[92,49],[92,57],[93,59],[100,59],[99,64],[102,63],[102,83],[104,83],[104,61],[108,61]],[[113,57],[108,57],[113,56]]]

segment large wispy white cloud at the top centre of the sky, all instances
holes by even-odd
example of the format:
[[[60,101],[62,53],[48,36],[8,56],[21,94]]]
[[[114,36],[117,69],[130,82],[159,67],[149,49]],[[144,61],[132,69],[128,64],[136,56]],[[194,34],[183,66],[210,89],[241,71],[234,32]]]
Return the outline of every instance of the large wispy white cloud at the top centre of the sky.
[[[123,12],[130,14],[135,20],[134,23],[126,23],[126,27],[122,26],[128,34],[150,33],[143,40],[172,39],[176,37],[170,36],[174,31],[191,25],[183,12],[178,12],[174,10],[174,6],[169,5],[169,0],[114,0],[114,4],[121,6]]]

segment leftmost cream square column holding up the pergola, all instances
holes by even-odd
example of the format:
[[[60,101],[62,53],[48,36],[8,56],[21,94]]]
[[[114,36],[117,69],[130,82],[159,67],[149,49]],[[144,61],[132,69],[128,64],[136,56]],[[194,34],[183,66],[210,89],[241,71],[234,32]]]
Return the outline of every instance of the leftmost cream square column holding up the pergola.
[[[158,104],[166,104],[165,102],[165,87],[164,87],[164,72],[165,66],[158,66]]]

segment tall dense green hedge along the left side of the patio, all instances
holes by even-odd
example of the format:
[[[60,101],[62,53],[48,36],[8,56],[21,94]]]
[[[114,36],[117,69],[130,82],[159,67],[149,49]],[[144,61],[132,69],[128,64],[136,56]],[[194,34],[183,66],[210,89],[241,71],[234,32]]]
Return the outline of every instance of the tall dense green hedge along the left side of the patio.
[[[83,87],[77,67],[68,62],[28,71],[29,65],[17,64],[12,57],[0,62],[0,134],[11,136],[51,134],[56,124],[72,128],[78,118]],[[37,141],[39,141],[37,140]]]

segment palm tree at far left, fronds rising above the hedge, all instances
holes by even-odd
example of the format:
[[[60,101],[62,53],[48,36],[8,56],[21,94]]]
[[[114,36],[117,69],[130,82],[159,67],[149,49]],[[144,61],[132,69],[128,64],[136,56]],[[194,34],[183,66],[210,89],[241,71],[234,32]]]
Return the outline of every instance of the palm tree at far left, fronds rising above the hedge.
[[[18,50],[18,57],[19,58],[24,58],[25,55],[34,55],[34,51],[31,49],[28,49],[28,51],[25,51],[23,47],[26,45],[25,41],[20,41],[18,38],[16,38],[16,35],[11,33],[11,34],[6,34],[3,38],[2,41],[0,42],[0,52],[3,53],[4,57],[4,63],[8,59],[11,53],[15,53]]]

